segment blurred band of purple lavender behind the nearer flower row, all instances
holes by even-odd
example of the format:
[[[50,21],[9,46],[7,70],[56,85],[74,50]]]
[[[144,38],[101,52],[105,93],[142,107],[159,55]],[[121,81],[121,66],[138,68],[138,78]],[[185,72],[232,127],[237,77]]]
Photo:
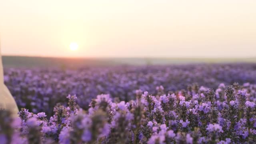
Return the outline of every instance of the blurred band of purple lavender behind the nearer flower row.
[[[136,90],[163,96],[164,93],[191,89],[194,83],[202,86],[196,85],[196,91],[200,92],[208,90],[207,87],[216,89],[220,83],[255,84],[255,67],[255,64],[190,64],[77,69],[6,68],[4,80],[19,108],[34,113],[45,112],[50,116],[56,103],[67,103],[68,94],[76,95],[78,105],[88,109],[91,99],[100,94],[128,102],[136,98]],[[223,84],[220,85],[217,97],[224,98],[223,88]],[[244,94],[240,92],[242,98]]]

